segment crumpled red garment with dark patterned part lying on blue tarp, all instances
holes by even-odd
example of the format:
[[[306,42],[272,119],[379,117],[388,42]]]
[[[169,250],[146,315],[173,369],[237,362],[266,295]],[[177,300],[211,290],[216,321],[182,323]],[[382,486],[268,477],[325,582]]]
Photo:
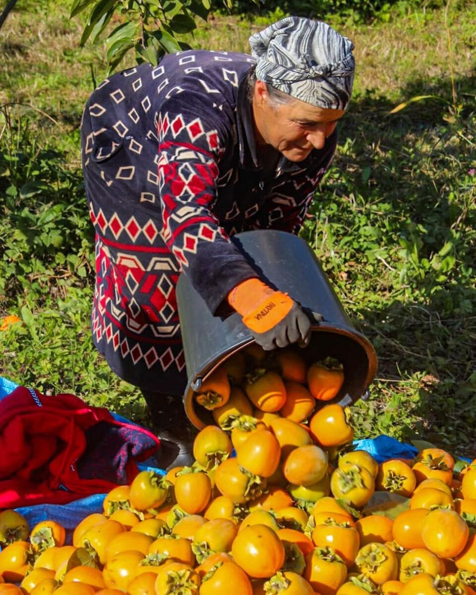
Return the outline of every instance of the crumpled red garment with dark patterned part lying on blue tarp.
[[[145,428],[74,394],[18,387],[0,400],[0,509],[64,504],[130,483],[136,461],[159,444]]]

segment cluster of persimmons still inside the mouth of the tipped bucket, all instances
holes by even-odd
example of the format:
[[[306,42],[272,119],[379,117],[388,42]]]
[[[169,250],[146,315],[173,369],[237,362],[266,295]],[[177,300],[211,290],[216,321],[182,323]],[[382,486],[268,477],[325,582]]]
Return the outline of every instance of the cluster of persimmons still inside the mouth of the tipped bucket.
[[[307,365],[295,347],[267,352],[258,345],[234,353],[203,381],[194,394],[198,405],[213,412],[220,427],[231,429],[237,415],[253,411],[306,421],[317,402],[339,394],[343,365],[327,357]]]

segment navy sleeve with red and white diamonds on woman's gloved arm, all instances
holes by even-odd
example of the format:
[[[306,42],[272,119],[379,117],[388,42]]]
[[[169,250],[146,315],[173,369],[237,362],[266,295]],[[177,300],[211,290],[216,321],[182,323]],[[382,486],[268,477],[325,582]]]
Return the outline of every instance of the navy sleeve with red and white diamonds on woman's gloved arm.
[[[230,290],[256,273],[213,212],[219,162],[233,142],[233,126],[202,104],[199,93],[180,93],[158,114],[161,236],[215,314]]]

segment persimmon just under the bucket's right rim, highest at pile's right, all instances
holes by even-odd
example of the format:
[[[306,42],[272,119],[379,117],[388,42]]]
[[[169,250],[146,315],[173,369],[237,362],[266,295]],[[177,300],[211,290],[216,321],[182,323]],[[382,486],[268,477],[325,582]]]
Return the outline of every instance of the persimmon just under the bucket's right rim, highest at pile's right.
[[[320,446],[341,446],[352,442],[350,409],[339,403],[324,405],[309,420],[309,430]]]

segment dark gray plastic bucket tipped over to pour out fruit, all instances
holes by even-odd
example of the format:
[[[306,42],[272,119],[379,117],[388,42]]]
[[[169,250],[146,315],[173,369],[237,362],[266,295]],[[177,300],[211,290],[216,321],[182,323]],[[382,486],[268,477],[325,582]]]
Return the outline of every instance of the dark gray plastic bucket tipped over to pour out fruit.
[[[324,317],[312,326],[311,341],[302,354],[308,364],[327,356],[343,364],[344,384],[330,402],[349,405],[365,396],[377,371],[374,347],[352,326],[307,243],[286,231],[275,230],[245,231],[231,240],[259,277]],[[177,304],[188,378],[184,406],[192,424],[203,428],[214,421],[209,411],[195,405],[194,390],[227,358],[255,341],[239,314],[213,316],[184,274],[177,283]]]

